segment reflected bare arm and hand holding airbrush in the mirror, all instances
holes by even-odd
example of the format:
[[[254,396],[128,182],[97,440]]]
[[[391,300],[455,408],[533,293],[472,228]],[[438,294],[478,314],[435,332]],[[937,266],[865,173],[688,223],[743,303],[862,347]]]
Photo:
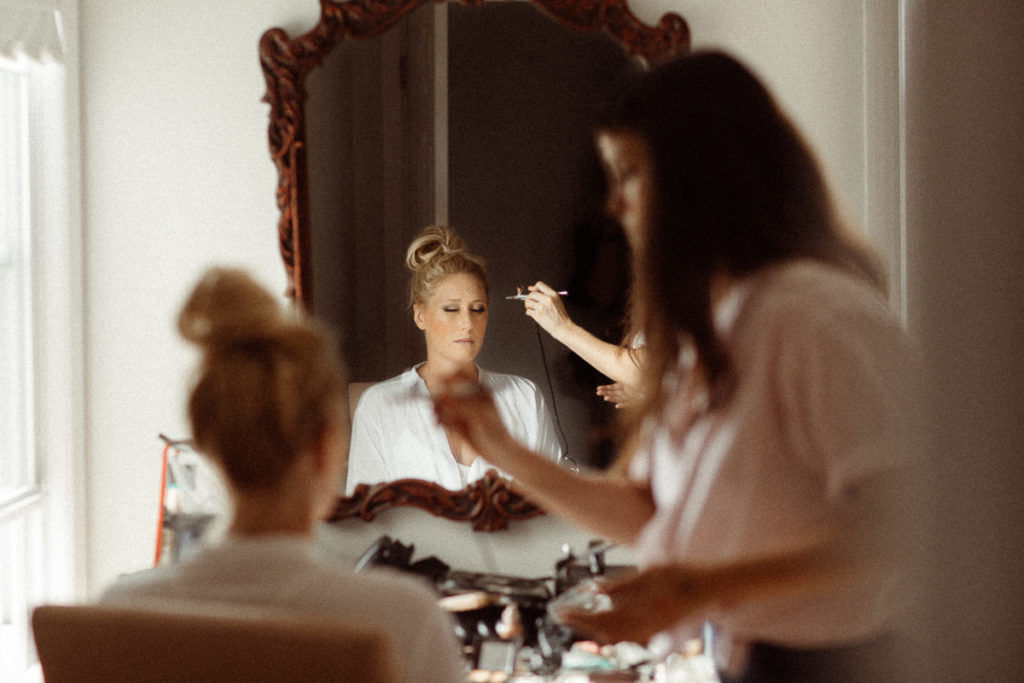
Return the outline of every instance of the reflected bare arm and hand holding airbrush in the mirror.
[[[628,387],[640,386],[643,349],[624,349],[598,339],[572,322],[558,293],[543,282],[530,286],[523,302],[526,315],[544,331],[593,366],[599,373]]]

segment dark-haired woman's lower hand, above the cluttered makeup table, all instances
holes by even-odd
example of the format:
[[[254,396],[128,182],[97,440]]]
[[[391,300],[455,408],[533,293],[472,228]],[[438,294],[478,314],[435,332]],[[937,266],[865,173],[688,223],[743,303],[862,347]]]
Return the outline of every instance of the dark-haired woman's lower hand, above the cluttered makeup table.
[[[564,611],[558,621],[603,643],[646,643],[706,606],[703,572],[682,565],[654,566],[601,588],[611,609]]]

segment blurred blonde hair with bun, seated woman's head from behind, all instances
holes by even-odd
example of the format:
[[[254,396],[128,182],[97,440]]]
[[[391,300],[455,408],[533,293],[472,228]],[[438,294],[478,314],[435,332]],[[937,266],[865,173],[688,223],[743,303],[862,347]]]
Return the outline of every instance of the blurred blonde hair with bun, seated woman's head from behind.
[[[197,447],[236,486],[272,487],[339,419],[344,372],[333,336],[230,268],[207,271],[177,324],[202,352],[188,397]]]

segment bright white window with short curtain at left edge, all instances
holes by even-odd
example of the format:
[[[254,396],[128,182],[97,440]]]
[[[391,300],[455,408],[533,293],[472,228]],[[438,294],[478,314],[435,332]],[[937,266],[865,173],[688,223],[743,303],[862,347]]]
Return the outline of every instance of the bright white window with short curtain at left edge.
[[[71,12],[68,8],[71,8]],[[0,0],[0,680],[29,680],[30,616],[81,587],[81,266],[68,0]],[[74,179],[74,182],[73,182]],[[76,519],[77,517],[77,519]]]

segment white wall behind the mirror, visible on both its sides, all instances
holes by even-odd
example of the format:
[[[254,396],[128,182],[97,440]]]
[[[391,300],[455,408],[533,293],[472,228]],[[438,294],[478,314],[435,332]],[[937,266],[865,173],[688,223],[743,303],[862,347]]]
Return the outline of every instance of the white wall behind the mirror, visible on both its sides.
[[[728,48],[805,129],[851,215],[870,216],[863,2],[641,0],[695,46]],[[878,6],[878,5],[876,5]],[[889,6],[888,3],[886,6]],[[193,355],[173,316],[204,266],[284,290],[257,41],[296,35],[313,0],[89,0],[81,6],[89,586],[152,562],[159,432],[186,433]],[[891,211],[891,207],[886,209]],[[895,225],[885,227],[895,234]]]

